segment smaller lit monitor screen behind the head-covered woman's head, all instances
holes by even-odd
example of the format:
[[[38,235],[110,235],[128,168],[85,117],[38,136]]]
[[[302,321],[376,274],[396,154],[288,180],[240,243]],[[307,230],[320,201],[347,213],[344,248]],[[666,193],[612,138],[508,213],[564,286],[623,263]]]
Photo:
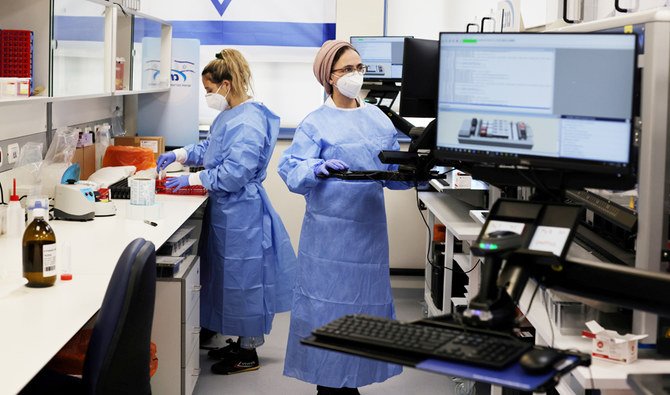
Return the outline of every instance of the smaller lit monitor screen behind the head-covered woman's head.
[[[405,37],[351,37],[351,44],[367,66],[366,81],[400,81]]]

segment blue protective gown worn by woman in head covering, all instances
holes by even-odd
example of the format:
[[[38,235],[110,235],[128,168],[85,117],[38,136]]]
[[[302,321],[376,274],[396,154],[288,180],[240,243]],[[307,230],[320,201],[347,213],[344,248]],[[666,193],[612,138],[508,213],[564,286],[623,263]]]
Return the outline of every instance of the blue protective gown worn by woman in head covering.
[[[387,170],[380,150],[399,148],[389,119],[374,106],[326,104],[298,126],[279,174],[305,196],[298,274],[284,375],[328,387],[361,387],[399,374],[400,366],[300,344],[317,327],[346,314],[395,317],[383,183],[319,179],[314,167],[340,159],[351,170]],[[387,185],[407,188],[405,183]]]

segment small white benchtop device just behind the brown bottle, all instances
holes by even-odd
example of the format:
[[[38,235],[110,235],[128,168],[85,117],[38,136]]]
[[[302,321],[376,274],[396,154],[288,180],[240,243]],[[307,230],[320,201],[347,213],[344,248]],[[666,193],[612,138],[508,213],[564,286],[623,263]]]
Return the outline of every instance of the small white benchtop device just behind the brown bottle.
[[[82,184],[56,185],[54,217],[69,221],[89,221],[95,217],[93,189]]]

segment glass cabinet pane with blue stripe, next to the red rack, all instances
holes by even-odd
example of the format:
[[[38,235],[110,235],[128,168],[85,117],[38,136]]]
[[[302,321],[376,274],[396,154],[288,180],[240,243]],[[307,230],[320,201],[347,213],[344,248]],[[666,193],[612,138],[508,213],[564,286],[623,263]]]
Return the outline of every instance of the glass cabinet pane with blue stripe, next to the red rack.
[[[51,95],[105,93],[105,18],[108,7],[54,0]]]

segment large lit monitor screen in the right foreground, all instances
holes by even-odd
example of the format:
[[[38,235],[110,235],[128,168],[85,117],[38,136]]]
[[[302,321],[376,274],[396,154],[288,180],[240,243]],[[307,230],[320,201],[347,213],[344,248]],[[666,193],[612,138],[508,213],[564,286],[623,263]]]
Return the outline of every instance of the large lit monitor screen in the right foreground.
[[[635,69],[633,34],[442,33],[438,155],[628,174]]]

